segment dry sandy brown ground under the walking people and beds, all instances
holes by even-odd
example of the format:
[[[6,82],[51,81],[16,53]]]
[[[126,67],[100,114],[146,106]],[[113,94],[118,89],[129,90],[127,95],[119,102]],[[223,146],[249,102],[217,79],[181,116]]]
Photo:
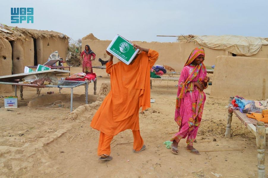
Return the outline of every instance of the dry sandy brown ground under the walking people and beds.
[[[78,71],[81,67],[71,68],[71,73]],[[94,69],[94,72],[102,76],[97,80],[98,94],[101,83],[109,82],[110,77],[102,69]],[[60,94],[58,88],[46,88],[37,97],[35,88],[25,87],[24,100],[19,98],[19,107],[11,111],[4,108],[1,98],[0,177],[216,177],[212,173],[221,174],[221,177],[257,177],[257,148],[253,134],[233,116],[232,137],[224,138],[228,98],[209,98],[207,95],[194,144],[202,151],[201,155],[187,152],[185,139],[179,143],[178,155],[165,148],[163,142],[177,131],[174,122],[176,84],[152,82],[151,97],[155,103],[139,115],[141,136],[147,149],[133,153],[132,132],[126,130],[114,136],[111,143],[113,160],[109,162],[98,160],[99,132],[89,127],[96,110],[87,110],[75,120],[68,119],[70,89],[64,88]],[[206,93],[210,92],[210,87]],[[48,95],[47,91],[55,93]],[[74,88],[74,109],[84,104],[84,91],[83,86]],[[93,83],[89,84],[89,94],[92,103],[97,98],[93,95]],[[0,93],[0,96],[5,95],[13,93]],[[31,100],[36,107],[27,106]],[[51,107],[54,101],[58,102]]]

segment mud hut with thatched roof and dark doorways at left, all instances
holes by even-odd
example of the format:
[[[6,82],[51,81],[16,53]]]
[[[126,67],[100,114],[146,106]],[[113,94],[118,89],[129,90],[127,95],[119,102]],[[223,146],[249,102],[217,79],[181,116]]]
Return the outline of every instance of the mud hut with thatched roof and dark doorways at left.
[[[58,51],[64,60],[69,37],[59,32],[4,26],[0,24],[0,76],[24,72],[25,66],[43,64]],[[0,85],[10,91],[11,86]]]

